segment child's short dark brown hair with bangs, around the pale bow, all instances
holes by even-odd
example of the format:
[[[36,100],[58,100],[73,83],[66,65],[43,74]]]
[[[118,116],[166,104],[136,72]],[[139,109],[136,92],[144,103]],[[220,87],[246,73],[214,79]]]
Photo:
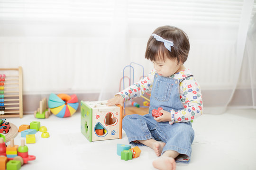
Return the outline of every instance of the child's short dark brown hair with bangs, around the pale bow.
[[[190,45],[188,36],[183,30],[174,26],[160,26],[155,29],[153,34],[174,42],[174,46],[171,47],[171,52],[165,48],[164,42],[157,41],[153,36],[150,36],[146,46],[146,59],[165,61],[165,57],[176,58],[178,63],[184,63],[187,60]]]

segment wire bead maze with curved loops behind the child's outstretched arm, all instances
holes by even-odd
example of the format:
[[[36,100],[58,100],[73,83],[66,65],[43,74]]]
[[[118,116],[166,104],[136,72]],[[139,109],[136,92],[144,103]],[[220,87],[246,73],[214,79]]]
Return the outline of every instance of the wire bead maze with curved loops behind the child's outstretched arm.
[[[141,65],[141,64],[138,64],[138,63],[135,63],[135,62],[131,62],[130,65],[124,67],[123,69],[123,77],[120,79],[120,83],[119,83],[119,92],[121,91],[121,82],[123,80],[123,89],[125,89],[125,78],[128,78],[129,80],[129,86],[131,85],[131,76],[132,76],[132,84],[134,84],[134,67],[132,66],[132,64],[136,64],[138,66],[140,66],[142,68],[142,71],[143,71],[143,75],[140,77],[140,79],[143,79],[144,78],[144,67]],[[130,76],[125,76],[124,72],[125,72],[125,69],[126,68],[130,68],[129,70],[129,74]],[[150,96],[150,94],[146,93],[148,96]],[[141,95],[140,97],[143,98],[143,106],[142,105],[139,105],[137,102],[134,102],[132,100],[131,101],[131,104],[137,108],[139,107],[149,107],[149,99],[146,98],[145,96]],[[146,100],[146,101],[145,101]],[[125,103],[124,103],[124,115],[125,115]]]

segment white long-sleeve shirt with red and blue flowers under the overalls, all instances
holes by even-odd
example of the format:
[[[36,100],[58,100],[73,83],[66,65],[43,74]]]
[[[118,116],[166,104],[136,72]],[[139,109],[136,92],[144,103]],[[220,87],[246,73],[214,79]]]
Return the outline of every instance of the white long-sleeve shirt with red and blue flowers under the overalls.
[[[178,122],[188,122],[199,116],[201,116],[203,111],[202,95],[200,85],[197,83],[196,79],[191,76],[191,71],[186,68],[183,71],[175,73],[170,76],[175,79],[183,79],[179,85],[180,99],[183,103],[183,110],[171,110],[171,118],[169,123]],[[137,83],[129,86],[123,91],[117,93],[121,95],[125,101],[129,101],[135,97],[139,97],[142,94],[151,90],[154,82],[155,69],[153,69],[144,79],[138,81]],[[187,78],[186,78],[187,77]],[[166,110],[167,111],[167,110]]]

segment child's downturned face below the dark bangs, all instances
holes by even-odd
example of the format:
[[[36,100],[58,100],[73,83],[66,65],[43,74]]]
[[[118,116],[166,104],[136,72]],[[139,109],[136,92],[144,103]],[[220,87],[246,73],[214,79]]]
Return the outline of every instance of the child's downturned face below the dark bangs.
[[[165,61],[163,60],[157,60],[153,61],[155,71],[160,76],[172,76],[174,73],[177,73],[179,71],[183,70],[183,64],[178,64],[177,59],[168,59],[165,58]]]

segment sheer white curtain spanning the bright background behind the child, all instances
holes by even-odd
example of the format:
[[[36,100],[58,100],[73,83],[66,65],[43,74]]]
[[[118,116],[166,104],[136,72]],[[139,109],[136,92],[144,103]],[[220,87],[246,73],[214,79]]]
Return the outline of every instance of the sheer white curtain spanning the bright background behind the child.
[[[146,42],[171,25],[190,38],[185,66],[201,85],[205,112],[255,108],[255,13],[253,0],[0,0],[0,68],[22,66],[28,97],[106,100],[125,66],[153,68]],[[140,76],[135,66],[135,81]]]

